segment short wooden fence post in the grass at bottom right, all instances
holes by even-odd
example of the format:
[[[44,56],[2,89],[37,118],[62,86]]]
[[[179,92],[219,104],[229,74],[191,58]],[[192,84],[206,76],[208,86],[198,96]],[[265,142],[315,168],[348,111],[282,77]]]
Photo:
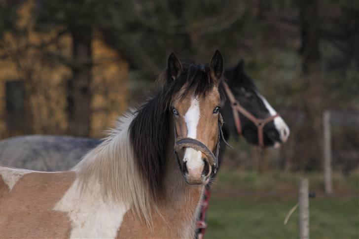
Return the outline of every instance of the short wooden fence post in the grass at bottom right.
[[[309,190],[308,179],[299,181],[299,238],[309,239]]]

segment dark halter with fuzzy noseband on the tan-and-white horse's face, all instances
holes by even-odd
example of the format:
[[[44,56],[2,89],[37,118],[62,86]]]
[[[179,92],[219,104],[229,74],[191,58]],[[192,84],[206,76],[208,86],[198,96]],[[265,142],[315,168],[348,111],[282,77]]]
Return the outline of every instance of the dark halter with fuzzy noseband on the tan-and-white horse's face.
[[[182,148],[193,148],[195,150],[201,151],[204,153],[209,161],[209,164],[212,166],[212,175],[217,172],[218,169],[218,154],[219,154],[219,139],[222,138],[224,143],[227,144],[229,147],[231,147],[227,141],[223,137],[222,132],[222,125],[223,125],[223,119],[221,114],[218,114],[218,137],[217,137],[217,144],[215,147],[215,153],[213,153],[204,143],[201,141],[190,138],[190,137],[178,137],[176,124],[175,124],[175,155],[177,158],[177,162],[179,164],[179,168],[181,167],[179,157],[178,157],[178,151]]]

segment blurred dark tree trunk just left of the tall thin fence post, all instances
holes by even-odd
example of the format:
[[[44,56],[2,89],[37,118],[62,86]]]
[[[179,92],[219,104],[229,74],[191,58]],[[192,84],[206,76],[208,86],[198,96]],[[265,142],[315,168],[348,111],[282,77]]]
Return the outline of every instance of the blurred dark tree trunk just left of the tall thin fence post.
[[[304,0],[300,6],[300,33],[302,58],[302,80],[305,92],[302,95],[306,118],[300,131],[305,138],[306,169],[322,167],[322,115],[323,115],[323,77],[320,68],[320,35],[318,31],[318,0]]]

